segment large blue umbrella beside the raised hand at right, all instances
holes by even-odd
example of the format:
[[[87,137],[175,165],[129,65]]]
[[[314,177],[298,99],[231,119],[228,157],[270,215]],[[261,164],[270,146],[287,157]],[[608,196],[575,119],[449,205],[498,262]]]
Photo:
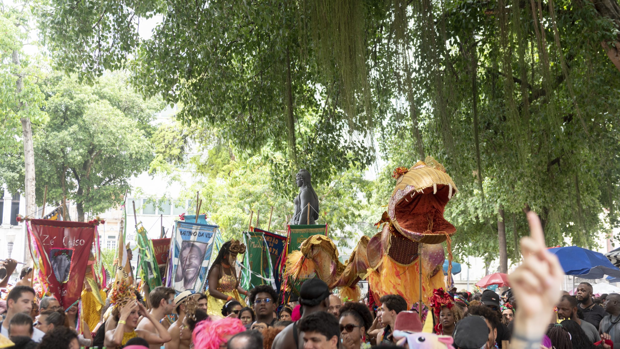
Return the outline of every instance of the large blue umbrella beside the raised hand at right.
[[[603,253],[577,246],[549,248],[560,260],[564,273],[583,279],[602,279],[604,275],[620,278],[620,269],[611,264]]]

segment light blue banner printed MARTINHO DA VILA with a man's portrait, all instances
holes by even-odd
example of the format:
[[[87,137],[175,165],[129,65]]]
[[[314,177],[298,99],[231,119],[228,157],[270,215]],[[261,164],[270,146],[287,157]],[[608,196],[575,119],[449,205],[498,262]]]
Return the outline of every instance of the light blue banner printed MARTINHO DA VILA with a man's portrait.
[[[218,226],[177,221],[172,236],[168,287],[177,292],[201,292],[207,281],[207,271]]]

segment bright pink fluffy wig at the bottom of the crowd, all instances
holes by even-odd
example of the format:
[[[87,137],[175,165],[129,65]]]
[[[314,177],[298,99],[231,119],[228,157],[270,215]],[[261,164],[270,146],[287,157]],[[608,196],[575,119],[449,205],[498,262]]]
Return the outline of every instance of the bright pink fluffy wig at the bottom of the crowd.
[[[241,320],[224,317],[215,321],[203,320],[196,324],[192,333],[192,342],[195,349],[218,349],[221,343],[226,343],[224,337],[244,332],[246,327]]]

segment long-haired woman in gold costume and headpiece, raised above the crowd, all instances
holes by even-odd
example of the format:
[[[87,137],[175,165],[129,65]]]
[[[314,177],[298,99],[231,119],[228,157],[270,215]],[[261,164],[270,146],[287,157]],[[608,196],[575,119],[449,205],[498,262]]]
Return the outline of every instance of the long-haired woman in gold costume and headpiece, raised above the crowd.
[[[237,255],[244,252],[246,252],[246,245],[239,240],[227,241],[219,249],[218,256],[209,270],[207,314],[221,316],[222,307],[231,299],[239,301],[242,307],[246,306],[246,302],[241,299],[239,294],[247,296],[249,292],[239,286],[237,271],[234,266]]]

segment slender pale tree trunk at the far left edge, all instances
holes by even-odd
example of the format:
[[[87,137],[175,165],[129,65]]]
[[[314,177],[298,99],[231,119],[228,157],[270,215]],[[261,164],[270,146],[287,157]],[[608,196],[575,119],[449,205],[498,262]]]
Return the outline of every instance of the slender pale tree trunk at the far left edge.
[[[20,73],[20,63],[19,63],[19,52],[17,50],[13,50],[11,53],[11,58],[13,60],[13,65],[15,66],[15,70],[17,70],[17,81],[15,81],[15,93],[19,95],[22,92],[22,88],[24,88],[24,78]],[[19,109],[23,109],[25,107],[24,102],[19,101]],[[25,171],[25,181],[24,181],[24,199],[25,199],[25,216],[32,217],[35,212],[37,212],[37,202],[35,202],[35,152],[34,146],[32,143],[32,125],[30,124],[30,119],[22,118],[20,119],[22,122],[22,137],[24,138],[24,171]],[[26,231],[26,230],[24,230]],[[27,242],[27,238],[25,238],[24,242]],[[24,261],[26,264],[30,263],[30,253],[28,253],[28,244],[24,243]]]

